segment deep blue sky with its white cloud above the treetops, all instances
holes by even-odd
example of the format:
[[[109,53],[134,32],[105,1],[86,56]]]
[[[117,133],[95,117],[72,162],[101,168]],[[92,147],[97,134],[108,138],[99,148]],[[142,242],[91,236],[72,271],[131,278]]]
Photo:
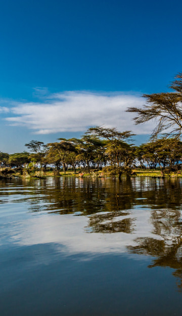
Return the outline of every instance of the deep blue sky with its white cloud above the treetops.
[[[143,141],[151,127],[137,130],[124,109],[182,71],[181,11],[181,1],[2,0],[0,150],[93,124]]]

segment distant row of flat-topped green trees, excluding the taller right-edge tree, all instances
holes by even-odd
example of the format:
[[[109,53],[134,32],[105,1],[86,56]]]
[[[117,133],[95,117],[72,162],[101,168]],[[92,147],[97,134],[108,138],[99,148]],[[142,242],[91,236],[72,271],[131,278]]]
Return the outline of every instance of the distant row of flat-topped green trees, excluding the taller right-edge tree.
[[[21,175],[180,176],[182,142],[176,138],[131,144],[133,134],[116,128],[90,128],[80,139],[43,144],[31,141],[29,152],[0,153],[1,177]]]

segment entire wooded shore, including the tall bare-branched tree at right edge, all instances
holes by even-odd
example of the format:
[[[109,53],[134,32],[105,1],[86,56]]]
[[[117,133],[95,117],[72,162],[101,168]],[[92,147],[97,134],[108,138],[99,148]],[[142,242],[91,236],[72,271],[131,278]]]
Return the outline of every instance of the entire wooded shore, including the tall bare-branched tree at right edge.
[[[97,126],[89,128],[81,138],[59,138],[44,144],[32,140],[27,151],[0,152],[0,178],[20,175],[75,176],[181,176],[182,172],[182,73],[169,86],[172,92],[143,95],[142,108],[129,107],[136,113],[136,124],[156,121],[149,142],[132,144],[131,131]]]

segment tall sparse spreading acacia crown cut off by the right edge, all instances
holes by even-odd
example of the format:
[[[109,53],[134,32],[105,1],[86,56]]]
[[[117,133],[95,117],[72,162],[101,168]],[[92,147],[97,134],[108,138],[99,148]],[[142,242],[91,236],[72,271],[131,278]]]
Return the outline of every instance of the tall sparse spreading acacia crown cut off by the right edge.
[[[182,73],[174,78],[169,88],[172,92],[144,94],[147,104],[142,108],[129,107],[126,111],[138,114],[133,119],[135,124],[156,120],[157,125],[153,137],[163,131],[170,130],[167,135],[180,137],[182,131]]]

